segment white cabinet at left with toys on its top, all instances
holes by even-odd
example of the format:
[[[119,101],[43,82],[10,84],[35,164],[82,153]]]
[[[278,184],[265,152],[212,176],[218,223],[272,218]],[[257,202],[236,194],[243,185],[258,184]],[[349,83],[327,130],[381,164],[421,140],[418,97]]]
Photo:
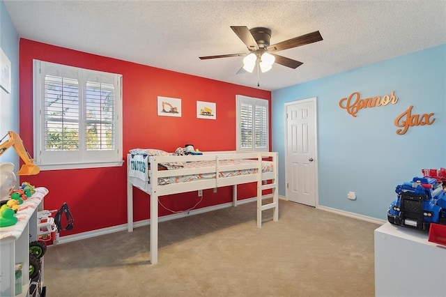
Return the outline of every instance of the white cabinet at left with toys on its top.
[[[29,243],[38,240],[37,212],[43,208],[43,197],[47,193],[46,188],[36,188],[36,193],[20,204],[15,214],[17,223],[0,227],[0,296],[29,295]],[[20,294],[15,289],[15,264],[18,263],[23,264]]]

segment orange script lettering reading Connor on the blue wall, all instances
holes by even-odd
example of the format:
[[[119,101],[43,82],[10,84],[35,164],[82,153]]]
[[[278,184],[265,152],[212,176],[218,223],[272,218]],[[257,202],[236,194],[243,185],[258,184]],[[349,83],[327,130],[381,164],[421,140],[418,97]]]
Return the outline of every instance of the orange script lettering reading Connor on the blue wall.
[[[363,108],[385,106],[389,103],[395,104],[398,102],[398,98],[395,97],[394,91],[390,92],[390,95],[383,97],[375,96],[373,98],[360,98],[359,92],[353,92],[348,98],[342,98],[339,100],[339,107],[346,109],[348,114],[356,117],[356,113]]]

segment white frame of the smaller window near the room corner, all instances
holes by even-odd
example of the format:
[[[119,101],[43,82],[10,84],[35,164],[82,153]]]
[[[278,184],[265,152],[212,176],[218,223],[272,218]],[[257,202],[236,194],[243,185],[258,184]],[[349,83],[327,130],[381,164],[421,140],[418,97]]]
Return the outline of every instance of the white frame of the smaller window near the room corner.
[[[266,146],[256,146],[255,141],[253,141],[251,147],[242,147],[242,125],[241,125],[241,106],[242,104],[252,105],[252,121],[255,123],[255,109],[257,107],[266,107],[266,128],[263,133],[266,135]],[[270,151],[270,119],[269,119],[269,101],[261,98],[253,98],[243,95],[236,95],[236,144],[237,151]],[[252,135],[255,133],[254,123],[252,123]]]

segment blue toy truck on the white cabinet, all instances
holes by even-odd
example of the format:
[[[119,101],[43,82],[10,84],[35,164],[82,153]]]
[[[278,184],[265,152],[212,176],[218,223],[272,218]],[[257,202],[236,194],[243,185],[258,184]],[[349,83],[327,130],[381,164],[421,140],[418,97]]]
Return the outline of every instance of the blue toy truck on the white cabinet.
[[[414,177],[397,185],[397,199],[390,204],[387,220],[399,226],[429,230],[431,223],[446,224],[446,192],[441,181]]]

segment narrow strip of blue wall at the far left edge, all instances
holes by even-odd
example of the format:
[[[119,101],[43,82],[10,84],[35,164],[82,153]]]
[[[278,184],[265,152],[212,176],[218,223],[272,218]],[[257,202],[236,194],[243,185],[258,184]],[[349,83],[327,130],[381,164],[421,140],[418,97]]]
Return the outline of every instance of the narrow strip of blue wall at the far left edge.
[[[11,93],[0,88],[0,139],[8,131],[19,132],[19,36],[8,10],[0,1],[0,47],[11,62]],[[0,157],[0,162],[13,162],[19,169],[19,156],[11,148]]]

